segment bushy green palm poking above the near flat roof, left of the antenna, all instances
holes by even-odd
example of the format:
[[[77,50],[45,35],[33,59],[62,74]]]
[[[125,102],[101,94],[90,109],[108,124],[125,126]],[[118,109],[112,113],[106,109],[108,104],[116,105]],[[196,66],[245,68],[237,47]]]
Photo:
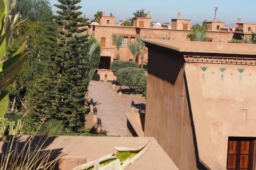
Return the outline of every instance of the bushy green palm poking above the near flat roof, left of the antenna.
[[[187,39],[190,41],[209,41],[207,35],[206,21],[202,22],[202,25],[195,24],[191,27],[191,33],[187,35]]]

